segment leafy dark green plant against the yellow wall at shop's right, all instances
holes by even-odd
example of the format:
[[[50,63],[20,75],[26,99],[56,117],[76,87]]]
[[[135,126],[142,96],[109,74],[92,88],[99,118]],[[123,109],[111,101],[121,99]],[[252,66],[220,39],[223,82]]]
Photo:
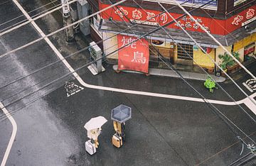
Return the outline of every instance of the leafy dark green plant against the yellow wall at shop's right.
[[[238,52],[232,52],[232,55],[235,57],[235,59],[239,60]],[[220,67],[223,70],[235,65],[235,63],[236,63],[235,60],[233,60],[233,58],[230,57],[230,55],[228,55],[227,52],[225,52],[224,55],[218,55],[218,57],[220,57],[220,60],[221,60]]]

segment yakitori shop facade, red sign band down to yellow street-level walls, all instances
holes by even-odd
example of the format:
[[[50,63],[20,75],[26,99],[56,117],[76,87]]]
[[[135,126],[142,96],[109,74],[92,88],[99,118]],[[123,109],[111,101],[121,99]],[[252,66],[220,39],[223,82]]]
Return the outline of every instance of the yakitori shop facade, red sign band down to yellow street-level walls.
[[[107,6],[110,6],[110,4],[104,4],[102,1],[99,1],[100,9]],[[250,60],[255,55],[256,33],[250,31],[251,29],[256,28],[255,10],[255,5],[249,6],[226,19],[198,15],[194,17],[211,34],[213,34],[215,38],[218,38],[220,43],[222,43],[222,45],[224,45],[230,52],[239,52],[240,61],[244,62]],[[156,28],[159,25],[164,26],[171,21],[171,18],[167,13],[161,13],[159,16],[153,18],[159,13],[161,13],[161,11],[151,9],[142,10],[132,6],[118,6],[118,8],[107,10],[97,16],[98,23],[102,20],[102,25],[100,28],[97,27],[95,29],[100,29],[99,31],[102,34],[102,39],[104,40],[102,49],[104,50],[105,55],[110,54],[110,52],[113,52],[114,50],[118,50],[120,48],[119,43],[122,42],[118,40],[119,35],[116,34],[123,29],[112,26],[113,21],[126,28],[127,23],[130,23],[131,21],[133,23],[139,23],[141,24],[142,30],[147,31],[147,29]],[[181,13],[174,12],[170,12],[170,14],[174,16],[174,18],[178,18],[182,15]],[[200,39],[196,41],[199,41],[198,43],[204,50],[206,50],[206,52],[208,52],[208,55],[198,48],[191,39],[183,37],[184,34],[182,34],[183,31],[181,28],[176,23],[172,23],[167,26],[166,29],[169,29],[171,33],[175,34],[172,35],[174,40],[170,39],[168,35],[164,35],[164,33],[148,35],[144,38],[146,43],[148,43],[147,47],[144,47],[144,49],[147,49],[149,52],[149,67],[167,68],[156,53],[159,52],[173,65],[186,65],[188,68],[200,66],[208,70],[208,72],[214,72],[216,67],[213,60],[220,64],[221,60],[218,55],[222,55],[225,51],[220,48],[219,45],[214,43],[213,40],[209,40],[207,34],[204,33],[203,30],[201,30],[201,28],[199,28],[188,16],[183,16],[183,18],[178,20],[178,23],[186,29],[186,31],[192,32],[192,36],[195,36],[195,38],[199,36],[198,38]],[[246,31],[247,27],[250,29],[247,29],[249,32],[245,34],[244,30]],[[127,38],[134,38],[139,37],[140,35],[138,34],[142,33],[135,29],[133,32],[121,33],[120,35],[125,35]],[[114,37],[110,38],[111,36]],[[106,40],[107,38],[110,39]],[[119,51],[117,51],[109,55],[107,59],[112,62],[119,62],[119,56]]]

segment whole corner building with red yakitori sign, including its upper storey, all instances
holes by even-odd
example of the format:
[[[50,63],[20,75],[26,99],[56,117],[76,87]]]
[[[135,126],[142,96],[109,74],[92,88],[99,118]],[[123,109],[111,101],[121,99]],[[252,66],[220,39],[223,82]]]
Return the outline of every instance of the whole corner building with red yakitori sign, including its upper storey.
[[[135,1],[135,2],[134,2]],[[91,35],[95,41],[110,38],[112,35],[123,31],[127,25],[132,26],[137,23],[138,26],[131,28],[130,31],[121,33],[125,36],[139,37],[145,33],[154,30],[166,23],[173,21],[168,13],[161,13],[158,3],[154,0],[139,1],[128,0],[119,6],[108,9],[100,13],[91,20]],[[92,13],[114,4],[114,0],[90,0]],[[169,13],[178,19],[178,23],[188,31],[188,33],[208,52],[215,62],[220,63],[218,55],[225,51],[213,41],[189,16],[183,16],[184,12],[169,0],[159,0],[161,4],[170,9]],[[240,61],[247,62],[253,59],[255,55],[256,42],[256,1],[255,0],[179,0],[187,11],[201,23],[223,46],[231,52],[238,52]],[[208,3],[208,4],[207,4]],[[207,4],[200,8],[203,4]],[[161,13],[159,16],[157,14]],[[156,16],[155,18],[153,18]],[[151,19],[149,19],[151,18]],[[149,19],[148,21],[146,21]],[[144,22],[145,21],[145,22]],[[202,52],[193,40],[184,33],[176,23],[166,26],[166,31],[162,29],[146,36],[146,45],[148,47],[140,49],[149,50],[149,67],[167,68],[159,57],[155,54],[155,48],[164,55],[176,67],[183,67],[187,70],[195,71],[195,67],[200,65],[208,72],[215,72],[218,69],[210,58]],[[105,40],[100,47],[105,55],[120,48],[121,41],[119,35]],[[178,45],[177,45],[178,43]],[[152,48],[154,46],[154,49]],[[193,57],[193,62],[186,52]],[[107,57],[109,62],[117,63],[118,52]]]

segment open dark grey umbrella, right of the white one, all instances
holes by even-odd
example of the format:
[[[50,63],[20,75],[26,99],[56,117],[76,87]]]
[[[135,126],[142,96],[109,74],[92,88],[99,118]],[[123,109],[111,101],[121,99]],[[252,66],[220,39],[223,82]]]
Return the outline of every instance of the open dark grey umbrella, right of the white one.
[[[132,109],[129,106],[121,104],[111,111],[111,119],[119,123],[124,123],[130,118],[132,118]]]

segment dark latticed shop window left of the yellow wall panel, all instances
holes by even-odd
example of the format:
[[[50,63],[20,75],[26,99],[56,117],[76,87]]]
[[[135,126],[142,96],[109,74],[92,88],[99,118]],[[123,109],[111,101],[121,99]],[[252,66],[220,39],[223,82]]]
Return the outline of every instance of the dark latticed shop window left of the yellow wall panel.
[[[193,57],[193,45],[179,44],[177,49],[178,59],[191,60]]]

